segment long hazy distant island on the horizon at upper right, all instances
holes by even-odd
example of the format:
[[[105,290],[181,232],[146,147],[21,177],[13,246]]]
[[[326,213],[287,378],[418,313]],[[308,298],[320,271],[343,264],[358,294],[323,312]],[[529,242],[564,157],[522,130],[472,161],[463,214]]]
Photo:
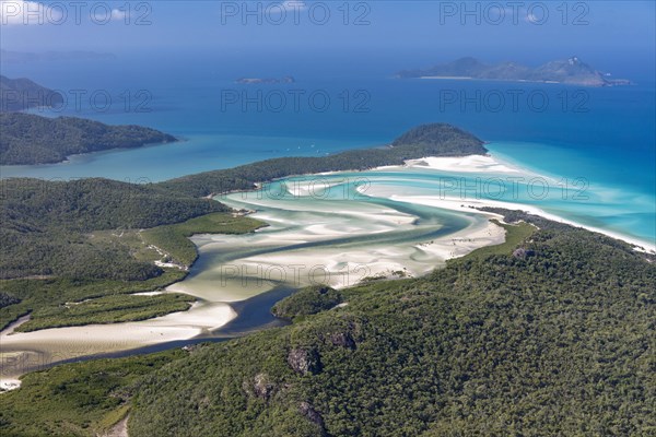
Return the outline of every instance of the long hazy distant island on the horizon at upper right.
[[[460,58],[425,70],[405,70],[397,78],[472,79],[508,82],[562,83],[581,86],[630,85],[631,81],[611,79],[609,73],[595,70],[577,57],[547,62],[537,68],[515,62],[487,64],[475,58]]]

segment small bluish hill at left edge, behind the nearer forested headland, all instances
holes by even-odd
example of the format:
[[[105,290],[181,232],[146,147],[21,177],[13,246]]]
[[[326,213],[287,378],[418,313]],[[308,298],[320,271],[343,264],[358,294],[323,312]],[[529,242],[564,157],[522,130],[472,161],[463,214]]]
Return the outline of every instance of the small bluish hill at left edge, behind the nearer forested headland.
[[[9,79],[0,75],[0,113],[13,113],[35,107],[61,105],[61,94],[30,79]]]

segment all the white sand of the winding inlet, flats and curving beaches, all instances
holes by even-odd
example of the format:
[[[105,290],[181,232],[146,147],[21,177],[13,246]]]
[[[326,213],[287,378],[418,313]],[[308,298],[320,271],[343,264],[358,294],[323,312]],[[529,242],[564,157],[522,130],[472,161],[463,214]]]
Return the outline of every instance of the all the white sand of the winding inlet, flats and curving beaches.
[[[408,167],[429,168],[436,173],[531,174],[490,155],[425,157],[394,168]],[[330,185],[333,186],[335,184]],[[0,383],[7,388],[15,388],[17,376],[38,368],[44,363],[207,334],[237,316],[229,303],[247,299],[277,284],[304,286],[327,283],[335,287],[345,287],[368,276],[418,276],[440,267],[447,259],[461,257],[479,247],[503,243],[505,231],[489,221],[496,215],[473,210],[472,206],[523,210],[656,251],[655,245],[567,221],[532,205],[483,199],[462,200],[437,193],[413,194],[412,190],[403,191],[393,184],[361,187],[359,190],[366,193],[363,198],[391,199],[467,213],[465,217],[469,225],[456,233],[431,240],[400,238],[388,244],[386,235],[421,231],[421,226],[415,224],[417,217],[361,200],[345,199],[344,203],[340,203],[335,199],[317,199],[312,196],[313,187],[309,182],[298,182],[292,187],[295,199],[270,199],[266,196],[260,199],[255,194],[247,198],[248,208],[261,210],[254,217],[267,221],[269,227],[247,235],[201,235],[192,238],[201,257],[216,251],[254,253],[248,252],[248,249],[262,250],[208,264],[202,271],[169,286],[168,292],[186,293],[201,299],[190,310],[140,322],[47,329],[28,333],[5,330],[0,333]],[[312,199],[308,200],[308,197]],[[243,194],[231,194],[229,199],[244,201]],[[423,226],[426,229],[438,229],[440,223]],[[366,236],[372,236],[373,239],[362,239],[361,244],[350,243],[352,238]],[[383,237],[379,240],[382,243],[376,243],[374,237]],[[232,270],[226,271],[226,268]]]

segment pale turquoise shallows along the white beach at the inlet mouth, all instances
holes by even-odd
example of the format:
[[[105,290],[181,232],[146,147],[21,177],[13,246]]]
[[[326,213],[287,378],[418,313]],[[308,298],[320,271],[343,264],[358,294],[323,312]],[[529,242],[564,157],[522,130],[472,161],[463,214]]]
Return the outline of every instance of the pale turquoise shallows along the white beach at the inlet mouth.
[[[503,147],[502,143],[490,144],[492,150]],[[620,184],[599,182],[577,173],[464,174],[401,168],[345,173],[333,177],[360,180],[365,187],[365,196],[367,192],[376,194],[383,188],[384,192],[399,197],[456,198],[464,204],[491,200],[511,205],[508,208],[520,204],[582,225],[608,229],[645,243],[655,241],[656,214],[654,198],[648,192],[629,191]],[[317,190],[320,192],[321,187],[330,185],[331,178],[315,178]],[[288,184],[293,186],[294,180]]]

